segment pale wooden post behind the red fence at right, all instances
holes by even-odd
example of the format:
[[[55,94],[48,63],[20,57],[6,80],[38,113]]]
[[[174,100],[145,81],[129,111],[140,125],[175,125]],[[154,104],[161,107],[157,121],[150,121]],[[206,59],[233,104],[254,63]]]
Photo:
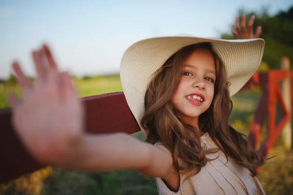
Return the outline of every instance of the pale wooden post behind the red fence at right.
[[[281,70],[290,71],[290,59],[288,57],[281,58]],[[282,95],[284,98],[284,103],[286,109],[291,113],[291,74],[288,75],[282,81]],[[292,149],[292,126],[291,126],[291,117],[290,120],[286,123],[282,131],[282,137],[285,142],[285,147],[287,150]]]

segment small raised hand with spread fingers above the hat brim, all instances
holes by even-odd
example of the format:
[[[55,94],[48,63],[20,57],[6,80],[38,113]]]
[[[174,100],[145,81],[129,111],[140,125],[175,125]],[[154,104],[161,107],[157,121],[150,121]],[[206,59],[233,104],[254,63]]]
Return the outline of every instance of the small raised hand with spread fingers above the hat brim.
[[[232,34],[235,35],[237,39],[256,39],[259,38],[261,34],[261,26],[258,26],[255,34],[253,35],[253,22],[255,20],[255,16],[252,16],[251,19],[248,22],[248,26],[246,28],[246,16],[243,14],[242,15],[242,20],[241,20],[241,27],[240,27],[240,22],[239,22],[239,17],[236,18],[236,29],[234,25],[231,27]]]

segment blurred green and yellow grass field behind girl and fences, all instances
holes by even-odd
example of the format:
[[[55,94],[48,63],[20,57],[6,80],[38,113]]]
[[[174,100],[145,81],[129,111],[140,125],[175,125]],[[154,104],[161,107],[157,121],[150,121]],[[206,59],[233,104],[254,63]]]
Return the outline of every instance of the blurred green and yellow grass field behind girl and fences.
[[[122,91],[118,76],[76,80],[81,97]],[[19,88],[0,85],[0,108],[8,106],[5,94]],[[239,92],[233,100],[231,125],[248,134],[260,89]],[[266,135],[266,125],[262,135]],[[133,135],[144,139],[141,133]],[[275,156],[261,169],[259,180],[267,195],[293,195],[293,151],[285,151],[279,138],[269,156]],[[92,173],[48,167],[1,185],[0,195],[157,195],[154,179],[136,171]]]

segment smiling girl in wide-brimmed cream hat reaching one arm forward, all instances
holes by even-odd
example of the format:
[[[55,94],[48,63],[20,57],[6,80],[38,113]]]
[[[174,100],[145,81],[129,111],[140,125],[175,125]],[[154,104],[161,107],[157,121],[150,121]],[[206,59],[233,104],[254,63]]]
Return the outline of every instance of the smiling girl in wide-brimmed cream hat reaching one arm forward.
[[[23,90],[22,103],[8,98],[14,125],[42,163],[89,171],[136,169],[156,178],[160,195],[263,195],[256,168],[264,160],[229,126],[230,97],[257,70],[263,50],[263,39],[191,36],[130,46],[121,61],[121,81],[147,136],[141,142],[124,133],[84,133],[83,105],[44,45],[33,52],[35,87],[13,64]]]

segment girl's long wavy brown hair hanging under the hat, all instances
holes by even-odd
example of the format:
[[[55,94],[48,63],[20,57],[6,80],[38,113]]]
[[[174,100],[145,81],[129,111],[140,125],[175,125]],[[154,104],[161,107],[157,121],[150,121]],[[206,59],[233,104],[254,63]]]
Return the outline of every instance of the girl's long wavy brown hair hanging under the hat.
[[[216,69],[214,97],[209,109],[199,116],[200,130],[181,120],[170,100],[179,85],[183,62],[197,49],[209,51],[214,57]],[[230,156],[246,167],[252,176],[256,176],[256,168],[264,164],[264,159],[251,147],[247,136],[229,125],[232,110],[229,85],[225,66],[209,42],[188,45],[176,52],[156,71],[148,84],[145,95],[146,112],[141,120],[147,132],[146,142],[163,142],[171,151],[180,173],[187,176],[197,174],[209,161],[206,154],[217,151],[204,150],[201,147],[199,137],[202,133],[209,133],[209,137],[225,156]],[[188,132],[192,132],[195,138]],[[179,163],[179,159],[183,163]]]

